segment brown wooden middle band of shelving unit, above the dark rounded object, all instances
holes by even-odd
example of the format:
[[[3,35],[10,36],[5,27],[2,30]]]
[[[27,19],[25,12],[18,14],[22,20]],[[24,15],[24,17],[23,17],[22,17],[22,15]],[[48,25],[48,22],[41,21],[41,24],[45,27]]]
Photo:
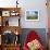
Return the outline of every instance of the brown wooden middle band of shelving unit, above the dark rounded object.
[[[1,26],[1,33],[10,30],[13,32],[14,34],[17,32],[20,35],[21,34],[21,27],[20,26]]]

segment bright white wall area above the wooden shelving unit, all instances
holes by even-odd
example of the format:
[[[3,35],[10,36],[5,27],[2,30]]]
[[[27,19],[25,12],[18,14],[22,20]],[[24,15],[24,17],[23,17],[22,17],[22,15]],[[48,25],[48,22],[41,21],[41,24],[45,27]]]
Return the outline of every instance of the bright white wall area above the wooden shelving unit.
[[[0,7],[1,7],[1,8],[15,7],[15,1],[16,1],[16,0],[0,0]]]

